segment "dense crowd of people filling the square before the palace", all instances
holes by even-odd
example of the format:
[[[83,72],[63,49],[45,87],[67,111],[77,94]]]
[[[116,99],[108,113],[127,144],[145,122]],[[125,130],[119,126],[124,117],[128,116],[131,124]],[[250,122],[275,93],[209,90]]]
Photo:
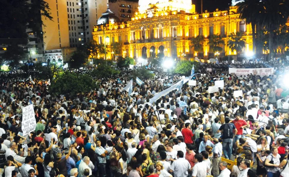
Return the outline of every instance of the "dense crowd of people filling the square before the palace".
[[[236,76],[228,74],[227,64],[204,63],[192,77],[196,86],[184,84],[154,103],[151,98],[182,77],[156,68],[154,78],[134,82],[128,95],[131,71],[123,69],[99,78],[98,90],[73,96],[50,93],[49,80],[4,74],[2,176],[289,177],[288,63],[234,67],[275,72]],[[208,93],[217,80],[224,87]],[[243,96],[235,98],[237,90]],[[22,109],[31,104],[36,129],[23,134]]]

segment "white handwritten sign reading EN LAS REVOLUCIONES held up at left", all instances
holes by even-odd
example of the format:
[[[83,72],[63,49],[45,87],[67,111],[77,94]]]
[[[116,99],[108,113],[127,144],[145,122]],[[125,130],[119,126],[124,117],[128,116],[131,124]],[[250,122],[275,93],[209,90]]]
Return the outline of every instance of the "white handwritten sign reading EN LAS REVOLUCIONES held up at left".
[[[28,133],[35,131],[36,128],[36,119],[35,113],[33,109],[33,105],[25,106],[22,109],[22,125],[21,129],[23,131],[23,136],[27,135]]]

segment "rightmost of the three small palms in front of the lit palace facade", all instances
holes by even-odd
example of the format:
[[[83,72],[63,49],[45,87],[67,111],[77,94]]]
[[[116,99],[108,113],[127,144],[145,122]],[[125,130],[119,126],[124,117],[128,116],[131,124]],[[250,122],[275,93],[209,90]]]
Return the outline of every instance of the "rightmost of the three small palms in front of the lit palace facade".
[[[238,52],[241,52],[246,44],[245,40],[243,40],[242,37],[243,37],[242,32],[237,32],[236,34],[231,33],[229,35],[229,38],[230,38],[229,49],[231,49],[231,51],[236,50],[237,58],[238,58]]]

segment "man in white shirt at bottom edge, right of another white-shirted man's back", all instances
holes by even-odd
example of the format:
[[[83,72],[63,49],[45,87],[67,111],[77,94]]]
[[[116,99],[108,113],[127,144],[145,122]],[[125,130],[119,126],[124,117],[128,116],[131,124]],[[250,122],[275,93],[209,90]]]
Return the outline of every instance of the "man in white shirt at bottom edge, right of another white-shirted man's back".
[[[203,162],[203,156],[201,154],[195,155],[195,166],[193,167],[192,177],[206,177],[207,164]]]

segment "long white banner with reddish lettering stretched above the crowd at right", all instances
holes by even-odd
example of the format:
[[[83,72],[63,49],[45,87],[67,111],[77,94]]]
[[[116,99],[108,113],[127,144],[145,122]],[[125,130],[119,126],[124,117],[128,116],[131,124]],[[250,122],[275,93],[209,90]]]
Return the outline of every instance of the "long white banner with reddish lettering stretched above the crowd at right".
[[[229,74],[235,73],[235,75],[248,75],[254,74],[257,72],[256,75],[266,76],[274,74],[274,68],[229,68]]]

